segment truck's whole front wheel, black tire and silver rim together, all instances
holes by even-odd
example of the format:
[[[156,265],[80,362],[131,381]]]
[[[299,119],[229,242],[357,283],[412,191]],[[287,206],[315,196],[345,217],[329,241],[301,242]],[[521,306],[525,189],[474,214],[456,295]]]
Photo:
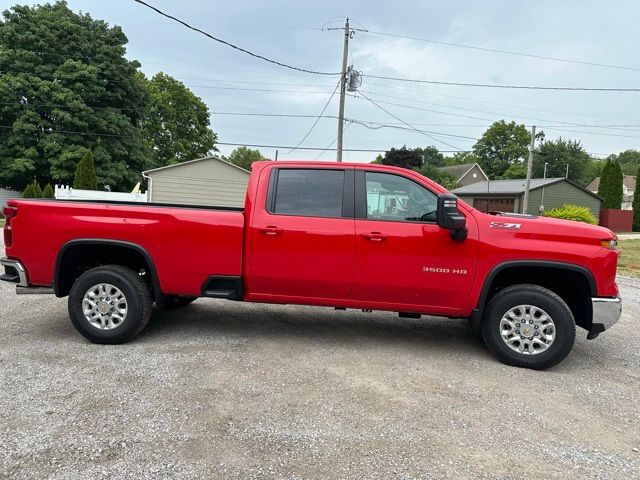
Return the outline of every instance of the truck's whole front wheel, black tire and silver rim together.
[[[542,370],[560,363],[573,348],[576,326],[567,304],[539,285],[513,285],[487,305],[482,338],[507,365]]]

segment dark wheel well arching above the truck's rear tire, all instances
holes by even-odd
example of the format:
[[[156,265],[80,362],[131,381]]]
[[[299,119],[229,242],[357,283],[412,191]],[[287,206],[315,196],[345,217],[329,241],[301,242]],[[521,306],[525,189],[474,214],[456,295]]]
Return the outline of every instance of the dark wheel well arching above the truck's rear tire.
[[[155,266],[146,251],[134,244],[106,240],[72,242],[62,248],[54,274],[56,296],[69,295],[80,275],[101,265],[122,265],[140,273],[152,297],[157,299],[160,296]]]

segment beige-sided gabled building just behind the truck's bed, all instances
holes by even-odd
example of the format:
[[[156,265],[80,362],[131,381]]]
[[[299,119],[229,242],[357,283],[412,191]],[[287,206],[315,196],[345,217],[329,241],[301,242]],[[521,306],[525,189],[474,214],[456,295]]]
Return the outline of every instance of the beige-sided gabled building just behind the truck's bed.
[[[149,201],[243,207],[249,172],[218,157],[147,170]]]

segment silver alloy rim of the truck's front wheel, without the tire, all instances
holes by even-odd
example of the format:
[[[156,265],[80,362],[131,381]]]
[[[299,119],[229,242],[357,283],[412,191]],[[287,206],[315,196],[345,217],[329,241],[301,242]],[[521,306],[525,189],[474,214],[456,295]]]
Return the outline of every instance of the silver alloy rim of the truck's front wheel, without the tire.
[[[518,305],[502,316],[500,336],[511,350],[523,355],[537,355],[555,340],[556,326],[541,308]]]

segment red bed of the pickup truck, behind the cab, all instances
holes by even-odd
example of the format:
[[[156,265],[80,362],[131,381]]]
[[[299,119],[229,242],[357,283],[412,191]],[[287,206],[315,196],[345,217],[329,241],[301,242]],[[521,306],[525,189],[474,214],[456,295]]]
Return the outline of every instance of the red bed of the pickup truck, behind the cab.
[[[201,294],[211,275],[242,272],[242,208],[157,203],[11,200],[13,245],[35,285],[50,286],[67,242],[100,238],[134,243],[153,261],[163,293]]]

